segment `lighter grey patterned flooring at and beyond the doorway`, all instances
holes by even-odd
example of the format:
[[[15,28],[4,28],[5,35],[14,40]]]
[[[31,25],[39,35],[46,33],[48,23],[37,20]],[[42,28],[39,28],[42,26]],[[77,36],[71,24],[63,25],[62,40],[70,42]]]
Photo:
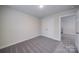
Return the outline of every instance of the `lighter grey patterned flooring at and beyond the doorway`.
[[[62,34],[61,42],[55,50],[55,53],[78,53],[75,40],[75,35]]]

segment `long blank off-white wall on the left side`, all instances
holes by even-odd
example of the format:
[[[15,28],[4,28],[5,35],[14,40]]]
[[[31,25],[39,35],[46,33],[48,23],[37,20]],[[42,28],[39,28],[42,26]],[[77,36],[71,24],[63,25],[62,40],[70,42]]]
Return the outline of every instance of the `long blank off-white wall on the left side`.
[[[40,35],[40,20],[8,7],[0,9],[0,48]]]

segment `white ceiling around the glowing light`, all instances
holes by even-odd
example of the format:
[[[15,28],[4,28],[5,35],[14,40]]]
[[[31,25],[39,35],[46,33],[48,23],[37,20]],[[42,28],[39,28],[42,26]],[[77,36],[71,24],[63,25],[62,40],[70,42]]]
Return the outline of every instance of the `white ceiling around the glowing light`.
[[[38,18],[74,8],[72,5],[44,5],[44,8],[39,8],[39,5],[9,5],[9,7]]]

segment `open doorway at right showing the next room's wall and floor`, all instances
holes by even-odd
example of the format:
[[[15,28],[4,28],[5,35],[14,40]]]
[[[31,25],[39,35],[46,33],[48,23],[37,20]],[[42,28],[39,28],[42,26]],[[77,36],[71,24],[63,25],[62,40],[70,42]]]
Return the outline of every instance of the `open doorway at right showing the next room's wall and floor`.
[[[76,39],[76,15],[61,17],[61,41],[68,52],[77,52]]]

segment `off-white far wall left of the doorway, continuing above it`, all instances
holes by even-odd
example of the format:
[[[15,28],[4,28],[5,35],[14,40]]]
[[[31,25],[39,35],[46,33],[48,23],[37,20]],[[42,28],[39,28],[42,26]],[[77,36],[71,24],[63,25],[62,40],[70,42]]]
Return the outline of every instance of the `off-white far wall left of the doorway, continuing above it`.
[[[75,15],[76,9],[60,12],[43,18],[41,34],[43,36],[61,41],[61,17]]]

